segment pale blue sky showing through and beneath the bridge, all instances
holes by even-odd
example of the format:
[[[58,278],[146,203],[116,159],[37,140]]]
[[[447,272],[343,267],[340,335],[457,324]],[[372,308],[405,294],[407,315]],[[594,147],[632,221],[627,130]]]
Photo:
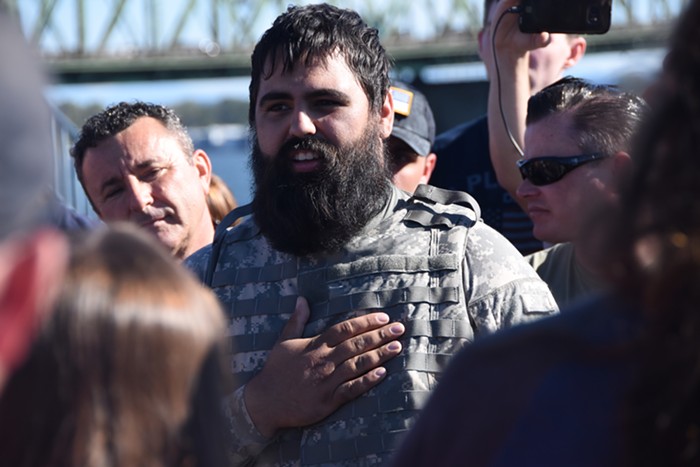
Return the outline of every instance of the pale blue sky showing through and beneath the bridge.
[[[385,0],[386,1],[386,0]],[[565,1],[565,0],[562,0]],[[145,16],[143,8],[147,5],[155,5],[159,13],[159,18],[162,19],[162,24],[159,24],[159,29],[162,32],[173,29],[172,22],[177,18],[175,12],[180,12],[186,5],[187,0],[130,0],[125,3],[127,8],[126,17],[129,21],[120,22],[116,29],[119,34],[114,36],[113,41],[128,43],[131,41],[132,46],[137,46],[139,42],[148,40],[144,38],[146,25],[144,24]],[[671,0],[672,3],[680,5],[681,0]],[[25,29],[31,29],[31,25],[36,21],[39,14],[39,6],[41,2],[36,0],[19,0],[22,16],[25,20]],[[266,13],[255,16],[259,24],[254,25],[254,28],[260,30],[260,33],[269,26],[274,17],[284,8],[287,2],[284,1],[269,1],[266,7]],[[299,3],[308,3],[302,0]],[[356,8],[359,11],[372,10],[375,11],[384,7],[385,4],[379,4],[370,0],[344,0],[334,3],[341,4],[345,7]],[[476,5],[481,5],[481,0],[474,0]],[[60,36],[64,44],[74,44],[77,39],[76,24],[75,24],[75,8],[77,2],[73,0],[59,0],[56,3],[57,18],[61,21],[55,22],[53,32],[47,34],[44,39],[43,47],[51,51],[55,49],[56,37]],[[90,18],[88,27],[86,28],[86,43],[88,48],[96,48],[99,42],[99,32],[104,30],[106,22],[109,20],[109,8],[116,4],[114,1],[108,0],[90,0],[84,2],[86,8],[86,16]],[[245,11],[250,8],[254,2],[237,2],[237,14],[245,16],[252,14]],[[388,3],[387,3],[388,4]],[[414,0],[411,3],[410,12],[407,12],[411,21],[409,22],[411,32],[415,36],[428,34],[429,27],[426,24],[426,15],[421,17],[421,11],[427,11],[426,8],[431,8],[430,14],[445,15],[449,11],[445,11],[446,2],[443,0]],[[205,9],[208,8],[210,2],[200,1],[197,8],[192,12],[191,18],[188,18],[185,28],[183,29],[183,41],[197,44],[202,40],[202,37],[207,37],[203,33],[204,24],[207,17]],[[654,0],[637,0],[634,4],[641,12],[642,16],[653,17],[658,9],[658,2]],[[677,10],[678,6],[673,6]],[[170,12],[171,14],[168,14]],[[613,25],[616,22],[616,17],[619,18],[623,13],[622,9],[617,4],[613,4]],[[455,20],[458,21],[458,20]],[[225,23],[225,21],[224,21]],[[222,31],[222,34],[227,34]],[[167,39],[167,38],[166,38]],[[164,40],[166,40],[164,39]],[[128,44],[127,44],[128,45]],[[119,47],[119,44],[112,44]],[[124,46],[124,44],[122,44]],[[570,70],[571,74],[582,76],[599,82],[616,82],[621,73],[640,73],[650,74],[658,68],[663,51],[630,51],[617,52],[614,54],[588,54],[584,57],[579,65]],[[485,79],[485,71],[480,63],[474,64],[458,64],[441,67],[433,67],[426,69],[423,72],[423,79],[426,81],[449,81],[449,80],[481,80]],[[96,84],[80,84],[80,85],[56,85],[52,86],[47,94],[51,100],[57,103],[72,101],[77,104],[98,103],[102,105],[111,104],[120,100],[150,100],[154,102],[162,102],[167,105],[172,105],[182,100],[191,100],[197,102],[214,102],[221,99],[233,98],[246,100],[248,96],[247,78],[217,78],[209,80],[179,80],[179,81],[152,81],[138,83],[96,83]]]

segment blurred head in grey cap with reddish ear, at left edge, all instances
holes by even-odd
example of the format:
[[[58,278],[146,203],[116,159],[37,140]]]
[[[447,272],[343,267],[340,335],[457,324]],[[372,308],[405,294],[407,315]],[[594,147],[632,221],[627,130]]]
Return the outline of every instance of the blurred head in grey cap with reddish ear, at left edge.
[[[62,235],[48,219],[51,121],[44,79],[16,18],[0,10],[0,391],[60,286]]]

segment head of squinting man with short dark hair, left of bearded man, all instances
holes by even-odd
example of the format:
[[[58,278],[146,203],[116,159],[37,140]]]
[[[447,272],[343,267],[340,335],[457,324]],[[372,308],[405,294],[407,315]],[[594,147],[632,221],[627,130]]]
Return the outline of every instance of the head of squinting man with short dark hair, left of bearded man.
[[[212,242],[211,161],[172,109],[121,102],[90,117],[71,149],[78,180],[105,222],[129,221],[184,259]]]

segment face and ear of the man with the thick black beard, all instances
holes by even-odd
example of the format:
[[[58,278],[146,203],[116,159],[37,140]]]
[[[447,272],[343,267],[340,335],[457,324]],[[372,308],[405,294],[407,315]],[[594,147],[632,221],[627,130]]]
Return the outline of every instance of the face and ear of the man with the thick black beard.
[[[265,157],[278,156],[285,142],[314,136],[336,147],[359,141],[368,124],[379,125],[378,136],[388,137],[393,109],[370,113],[367,96],[343,57],[322,63],[298,64],[288,73],[280,67],[260,82],[255,103],[255,130]],[[292,170],[313,172],[321,163],[312,151],[291,151]]]

